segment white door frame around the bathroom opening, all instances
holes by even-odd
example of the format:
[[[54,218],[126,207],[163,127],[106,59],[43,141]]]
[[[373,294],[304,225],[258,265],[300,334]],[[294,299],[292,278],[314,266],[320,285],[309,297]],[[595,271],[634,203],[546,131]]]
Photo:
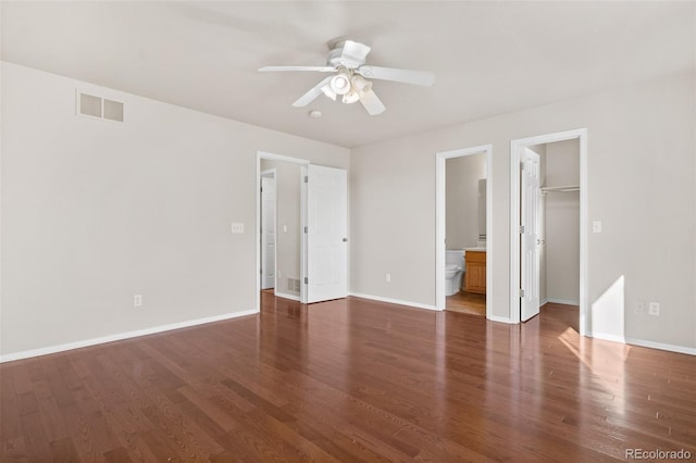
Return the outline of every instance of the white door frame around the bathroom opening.
[[[451,151],[438,152],[435,155],[435,309],[445,310],[447,299],[445,296],[445,251],[447,245],[445,238],[447,216],[447,188],[446,188],[446,161],[452,158],[462,158],[472,154],[486,155],[486,318],[493,320],[493,145],[462,148]]]

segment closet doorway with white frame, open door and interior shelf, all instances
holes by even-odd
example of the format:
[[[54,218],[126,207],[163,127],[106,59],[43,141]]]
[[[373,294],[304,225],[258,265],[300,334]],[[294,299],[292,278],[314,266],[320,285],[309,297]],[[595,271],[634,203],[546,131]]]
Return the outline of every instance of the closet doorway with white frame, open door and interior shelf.
[[[513,140],[511,148],[511,318],[564,311],[584,335],[586,129]]]

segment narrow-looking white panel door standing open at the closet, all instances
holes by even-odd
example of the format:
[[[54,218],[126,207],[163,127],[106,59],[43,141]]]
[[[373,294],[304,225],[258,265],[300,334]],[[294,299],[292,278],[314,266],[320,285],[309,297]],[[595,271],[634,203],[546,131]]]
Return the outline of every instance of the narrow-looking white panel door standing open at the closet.
[[[529,148],[522,153],[521,222],[521,286],[520,320],[526,322],[539,313],[539,155]]]

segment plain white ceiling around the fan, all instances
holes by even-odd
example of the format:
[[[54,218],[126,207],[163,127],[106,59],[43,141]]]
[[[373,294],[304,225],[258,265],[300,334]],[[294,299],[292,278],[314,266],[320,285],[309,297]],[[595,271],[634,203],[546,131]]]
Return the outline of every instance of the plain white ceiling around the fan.
[[[2,1],[2,59],[303,137],[356,147],[693,68],[696,3]],[[374,82],[387,107],[320,97],[327,42],[368,63],[435,73]],[[321,120],[308,117],[319,109]]]

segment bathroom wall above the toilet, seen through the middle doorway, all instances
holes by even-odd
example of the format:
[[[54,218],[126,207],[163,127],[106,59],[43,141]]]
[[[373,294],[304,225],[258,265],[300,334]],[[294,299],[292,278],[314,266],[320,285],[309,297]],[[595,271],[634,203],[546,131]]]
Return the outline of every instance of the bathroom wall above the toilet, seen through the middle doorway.
[[[471,154],[445,161],[447,249],[478,241],[478,179],[486,178],[486,155]]]

